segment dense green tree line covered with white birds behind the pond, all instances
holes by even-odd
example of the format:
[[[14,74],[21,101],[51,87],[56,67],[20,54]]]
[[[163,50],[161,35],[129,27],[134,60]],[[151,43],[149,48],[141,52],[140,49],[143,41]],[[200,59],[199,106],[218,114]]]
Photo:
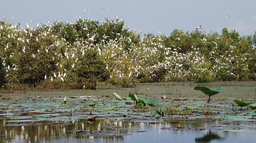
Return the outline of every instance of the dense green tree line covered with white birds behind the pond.
[[[39,23],[38,23],[39,24]],[[118,19],[99,23],[39,24],[0,21],[0,85],[15,88],[86,88],[97,83],[249,81],[256,79],[256,33],[239,36],[184,32],[135,34]]]

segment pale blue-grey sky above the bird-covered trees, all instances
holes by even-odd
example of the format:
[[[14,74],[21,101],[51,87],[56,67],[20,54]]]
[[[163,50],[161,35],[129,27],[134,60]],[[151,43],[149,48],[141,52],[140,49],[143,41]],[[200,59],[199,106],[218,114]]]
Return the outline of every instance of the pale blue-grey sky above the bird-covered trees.
[[[255,7],[256,0],[2,0],[0,19],[25,28],[26,22],[36,27],[53,19],[101,22],[118,17],[124,28],[129,26],[141,36],[170,36],[174,29],[190,33],[199,25],[205,34],[237,28],[240,36],[249,36],[256,31]]]

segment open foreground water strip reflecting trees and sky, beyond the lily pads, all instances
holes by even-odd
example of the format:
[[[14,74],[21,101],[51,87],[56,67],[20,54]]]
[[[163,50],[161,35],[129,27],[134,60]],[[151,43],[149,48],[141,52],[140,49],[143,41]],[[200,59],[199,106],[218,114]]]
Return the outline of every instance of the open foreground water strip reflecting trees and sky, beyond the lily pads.
[[[0,143],[130,143],[130,142],[246,142],[243,133],[227,133],[218,128],[231,125],[217,120],[165,119],[137,122],[132,120],[96,120],[87,119],[65,122],[36,122],[10,124],[6,118],[0,119]],[[3,126],[2,126],[3,125]],[[249,125],[247,125],[249,126]],[[251,126],[255,127],[254,124]],[[179,127],[179,128],[177,128]],[[246,139],[252,140],[254,133]],[[251,135],[251,136],[250,136]]]

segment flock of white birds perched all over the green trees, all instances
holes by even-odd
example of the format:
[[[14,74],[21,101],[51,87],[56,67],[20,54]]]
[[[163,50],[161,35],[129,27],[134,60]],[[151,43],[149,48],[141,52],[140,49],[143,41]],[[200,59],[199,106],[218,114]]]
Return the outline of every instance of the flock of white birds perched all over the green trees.
[[[227,16],[230,17],[230,16]],[[78,22],[78,20],[76,21]],[[75,24],[71,22],[67,22],[68,25]],[[104,22],[102,22],[104,23]],[[51,34],[52,28],[51,25],[49,25],[49,22],[44,23],[44,25],[48,27],[48,31],[44,31],[41,34],[39,34],[36,37],[36,41],[40,40],[41,38],[44,38],[48,34]],[[6,26],[1,25],[0,29],[7,28],[11,29],[8,33],[9,39],[16,39],[17,42],[23,42],[23,43],[29,43],[29,39],[26,39],[25,37],[19,37],[21,35],[20,33],[26,33],[30,37],[32,36],[31,31],[35,31],[36,28],[32,27],[30,28],[29,25],[26,25],[26,29],[19,29],[17,28],[17,25],[12,26]],[[40,28],[39,23],[37,25],[37,28]],[[88,30],[87,25],[85,24],[84,27],[82,27],[83,30]],[[198,26],[195,30],[199,30],[202,28],[202,25]],[[234,28],[235,30],[237,28]],[[92,36],[90,36],[92,35]],[[109,37],[108,35],[104,35],[101,42],[98,42],[98,44],[93,44],[95,36],[97,34],[90,34],[88,32],[87,36],[90,38],[83,39],[83,38],[77,38],[73,44],[70,44],[66,42],[65,37],[62,37],[60,41],[56,41],[54,43],[55,46],[61,46],[65,44],[68,48],[66,49],[65,56],[62,56],[61,53],[55,53],[55,55],[58,55],[61,59],[64,59],[62,63],[58,63],[57,65],[60,66],[61,71],[52,71],[51,73],[44,76],[44,79],[47,80],[47,77],[50,78],[51,81],[59,78],[62,82],[64,82],[64,78],[66,78],[66,73],[68,72],[66,69],[64,69],[63,62],[65,59],[69,59],[69,56],[71,56],[71,64],[70,66],[72,68],[75,67],[75,64],[78,60],[77,56],[81,54],[84,55],[84,52],[88,48],[93,48],[95,50],[98,50],[99,56],[103,56],[105,59],[105,63],[107,64],[106,69],[111,72],[111,78],[123,78],[124,76],[131,77],[133,76],[136,78],[140,74],[143,74],[145,76],[148,76],[150,78],[155,78],[155,73],[157,73],[157,70],[160,68],[165,68],[168,73],[166,74],[166,79],[171,79],[171,77],[177,77],[177,78],[186,78],[186,77],[193,77],[193,76],[200,76],[201,72],[204,72],[206,70],[209,70],[209,75],[215,75],[218,73],[218,70],[225,69],[227,71],[227,76],[239,76],[235,75],[232,70],[239,66],[239,64],[244,64],[244,70],[249,71],[247,68],[248,65],[246,65],[246,61],[251,60],[250,54],[252,53],[244,53],[244,56],[246,58],[241,59],[238,56],[233,56],[233,49],[235,49],[235,46],[230,45],[229,50],[226,51],[225,56],[224,55],[215,55],[215,51],[218,47],[218,42],[214,41],[207,41],[207,39],[203,38],[201,39],[202,42],[208,42],[208,44],[215,45],[211,53],[209,55],[211,56],[210,59],[206,59],[205,55],[200,53],[200,48],[204,47],[194,47],[194,45],[191,45],[192,51],[189,53],[180,53],[179,51],[182,49],[182,47],[177,47],[175,45],[172,45],[172,47],[165,47],[163,45],[163,39],[161,39],[161,36],[154,36],[150,39],[147,38],[141,38],[139,45],[135,45],[130,37],[120,36],[119,33],[116,33],[116,35],[120,36],[119,39],[111,39],[107,40]],[[0,35],[1,36],[1,35]],[[52,35],[53,37],[58,37],[59,35]],[[221,39],[221,37],[216,37],[216,39]],[[176,40],[180,40],[180,37],[177,37]],[[123,48],[126,46],[125,42],[130,43],[131,47],[128,47],[128,51],[125,51]],[[4,47],[1,50],[8,49],[9,43],[6,43],[6,47]],[[49,45],[52,46],[52,45]],[[228,46],[228,45],[227,45]],[[23,54],[29,54],[26,53],[26,48],[29,47],[23,47],[22,52]],[[126,47],[127,48],[127,47]],[[164,49],[164,50],[160,50]],[[41,51],[38,52],[46,52],[48,53],[50,48],[42,48]],[[254,47],[252,47],[252,50],[254,50]],[[249,51],[248,51],[249,52]],[[254,50],[255,53],[255,50]],[[214,56],[215,55],[215,56]],[[226,56],[228,55],[228,56]],[[15,55],[10,55],[15,56]],[[32,57],[35,57],[35,54],[31,55]],[[158,58],[160,56],[164,56],[164,60],[162,62],[158,61]],[[54,57],[52,57],[54,58]],[[212,60],[213,59],[213,60]],[[212,66],[208,69],[205,67],[208,67],[207,64],[211,63]],[[3,58],[2,63],[6,68],[6,76],[8,76],[9,70],[16,70],[17,65],[14,64],[12,67],[10,65],[6,65],[5,58]],[[187,68],[189,67],[189,68]],[[199,72],[196,72],[199,71]],[[58,77],[56,76],[56,73],[58,73]],[[197,75],[199,74],[199,75]]]

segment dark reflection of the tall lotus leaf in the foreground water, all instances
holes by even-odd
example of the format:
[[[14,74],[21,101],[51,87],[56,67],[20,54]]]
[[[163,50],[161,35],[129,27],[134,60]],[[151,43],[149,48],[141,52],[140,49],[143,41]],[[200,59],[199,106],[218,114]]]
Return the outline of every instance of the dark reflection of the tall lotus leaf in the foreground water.
[[[207,133],[203,137],[195,138],[196,143],[209,143],[211,140],[224,140],[224,137],[220,137],[218,134],[213,133],[211,132],[211,130],[209,130],[209,133]]]

